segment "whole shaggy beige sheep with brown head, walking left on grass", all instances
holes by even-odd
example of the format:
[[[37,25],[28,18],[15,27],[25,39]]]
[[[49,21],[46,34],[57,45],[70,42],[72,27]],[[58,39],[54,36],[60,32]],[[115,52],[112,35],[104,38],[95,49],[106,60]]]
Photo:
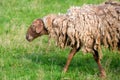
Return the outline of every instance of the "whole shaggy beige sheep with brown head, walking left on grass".
[[[35,19],[27,30],[26,39],[32,41],[42,35],[54,38],[60,48],[72,48],[63,72],[68,70],[73,56],[81,49],[84,53],[92,53],[100,76],[105,77],[100,61],[101,46],[120,50],[120,3],[71,7],[65,14]]]

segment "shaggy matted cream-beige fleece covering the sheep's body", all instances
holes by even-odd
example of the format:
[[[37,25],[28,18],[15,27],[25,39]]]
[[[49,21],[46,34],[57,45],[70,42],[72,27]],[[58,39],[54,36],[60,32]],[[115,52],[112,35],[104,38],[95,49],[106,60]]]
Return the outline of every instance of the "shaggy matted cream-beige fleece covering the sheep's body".
[[[66,14],[49,17],[51,28],[47,26],[47,29],[50,37],[61,48],[76,46],[84,52],[92,52],[101,45],[116,48],[120,43],[119,5],[107,3],[71,7]]]

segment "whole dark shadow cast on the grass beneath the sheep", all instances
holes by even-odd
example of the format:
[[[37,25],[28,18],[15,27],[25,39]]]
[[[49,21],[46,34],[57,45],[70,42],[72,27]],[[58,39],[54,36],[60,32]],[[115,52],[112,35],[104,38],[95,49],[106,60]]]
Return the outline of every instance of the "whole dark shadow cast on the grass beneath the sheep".
[[[24,55],[24,58],[31,60],[33,63],[36,63],[40,66],[43,66],[44,70],[50,70],[52,67],[58,67],[57,72],[62,72],[62,69],[66,63],[67,55],[63,53],[55,54],[46,53],[42,51],[42,53],[27,53]],[[120,56],[119,54],[105,54],[102,59],[102,65],[105,67],[106,72],[113,73],[114,75],[120,74]],[[46,67],[47,66],[47,67]],[[94,61],[91,54],[82,55],[81,52],[77,53],[73,58],[68,72],[82,72],[84,74],[98,74],[98,66]]]

